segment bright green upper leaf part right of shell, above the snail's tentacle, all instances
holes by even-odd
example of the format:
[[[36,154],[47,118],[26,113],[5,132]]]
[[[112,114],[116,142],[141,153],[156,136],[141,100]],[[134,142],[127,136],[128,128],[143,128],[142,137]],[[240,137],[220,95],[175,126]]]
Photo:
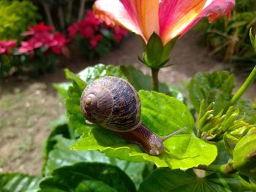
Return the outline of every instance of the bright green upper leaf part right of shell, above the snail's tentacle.
[[[185,104],[163,93],[139,91],[142,122],[154,133],[165,136],[179,128],[187,127],[181,134],[191,134],[194,118]]]

